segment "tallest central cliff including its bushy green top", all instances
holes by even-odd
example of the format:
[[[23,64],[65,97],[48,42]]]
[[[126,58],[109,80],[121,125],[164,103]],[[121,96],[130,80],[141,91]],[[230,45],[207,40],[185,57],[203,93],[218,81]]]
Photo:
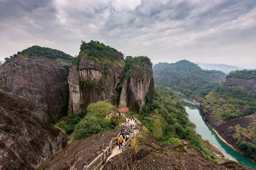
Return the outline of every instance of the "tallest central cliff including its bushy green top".
[[[123,54],[117,50],[101,51],[95,44],[98,42],[84,43],[85,49],[81,46],[77,65],[70,69],[68,76],[69,114],[75,116],[86,110],[90,103],[111,100],[116,92],[116,85],[124,74]],[[93,46],[92,51],[98,55],[88,53],[88,46]]]

